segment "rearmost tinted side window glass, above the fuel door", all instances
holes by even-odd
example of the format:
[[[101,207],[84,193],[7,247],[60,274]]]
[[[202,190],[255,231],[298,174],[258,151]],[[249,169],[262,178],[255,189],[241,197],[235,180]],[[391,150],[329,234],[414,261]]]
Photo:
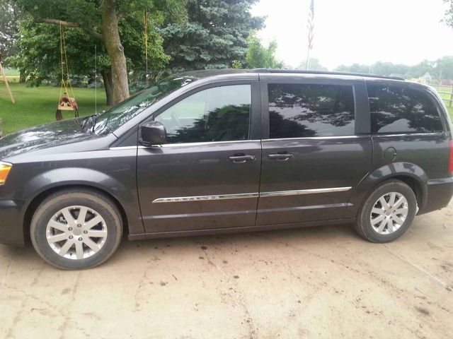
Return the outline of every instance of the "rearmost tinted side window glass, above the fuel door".
[[[412,88],[367,84],[372,133],[443,131],[435,102]]]

